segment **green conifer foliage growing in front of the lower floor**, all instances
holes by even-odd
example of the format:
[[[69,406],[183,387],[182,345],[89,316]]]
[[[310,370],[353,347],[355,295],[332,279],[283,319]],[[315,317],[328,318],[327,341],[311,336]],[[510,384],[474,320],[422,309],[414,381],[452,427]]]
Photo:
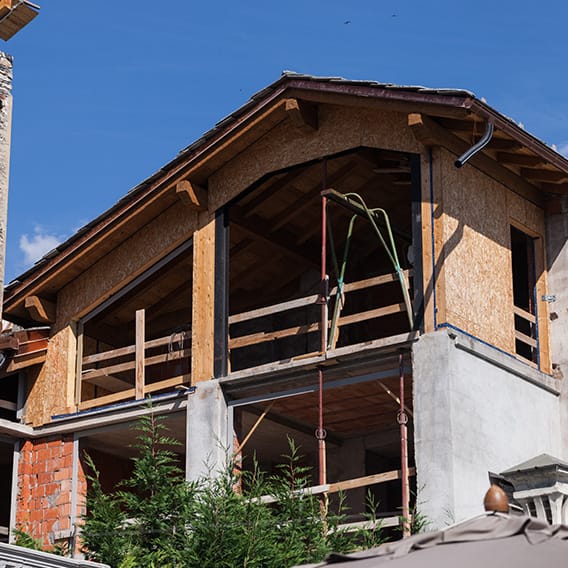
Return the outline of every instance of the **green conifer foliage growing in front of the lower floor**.
[[[164,428],[155,416],[141,420],[133,472],[112,494],[102,491],[89,460],[82,532],[88,558],[113,568],[283,568],[382,539],[379,523],[356,533],[340,528],[343,496],[332,513],[321,496],[303,491],[312,485],[311,472],[292,440],[276,475],[256,464],[235,474],[231,463],[188,484]]]

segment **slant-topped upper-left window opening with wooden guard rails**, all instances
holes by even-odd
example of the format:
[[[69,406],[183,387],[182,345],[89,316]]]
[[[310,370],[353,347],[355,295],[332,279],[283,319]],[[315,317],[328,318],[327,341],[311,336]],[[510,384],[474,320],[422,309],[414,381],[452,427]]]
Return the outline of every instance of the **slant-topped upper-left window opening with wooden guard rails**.
[[[190,382],[190,245],[182,245],[80,322],[81,409]]]

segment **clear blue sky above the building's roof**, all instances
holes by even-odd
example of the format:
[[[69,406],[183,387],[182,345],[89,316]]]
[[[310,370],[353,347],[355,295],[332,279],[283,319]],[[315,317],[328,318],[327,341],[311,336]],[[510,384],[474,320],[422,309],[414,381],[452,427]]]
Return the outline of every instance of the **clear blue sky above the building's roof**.
[[[284,69],[457,87],[568,154],[561,1],[35,0],[14,63],[6,282]]]

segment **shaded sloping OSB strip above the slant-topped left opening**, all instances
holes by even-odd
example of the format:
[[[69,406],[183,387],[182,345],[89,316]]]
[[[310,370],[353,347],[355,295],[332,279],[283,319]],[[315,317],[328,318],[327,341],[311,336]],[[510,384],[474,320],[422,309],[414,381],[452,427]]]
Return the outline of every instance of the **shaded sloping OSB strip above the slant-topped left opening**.
[[[177,202],[61,290],[57,325],[84,316],[191,237],[198,213]]]

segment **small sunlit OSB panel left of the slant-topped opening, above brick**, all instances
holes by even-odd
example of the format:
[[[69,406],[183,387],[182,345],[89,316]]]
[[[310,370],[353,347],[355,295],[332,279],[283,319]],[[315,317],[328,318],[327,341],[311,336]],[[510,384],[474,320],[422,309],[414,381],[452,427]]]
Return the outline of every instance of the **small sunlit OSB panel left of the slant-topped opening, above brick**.
[[[75,350],[73,330],[65,327],[50,338],[47,358],[39,372],[28,371],[26,422],[32,426],[46,424],[54,414],[73,410]]]

